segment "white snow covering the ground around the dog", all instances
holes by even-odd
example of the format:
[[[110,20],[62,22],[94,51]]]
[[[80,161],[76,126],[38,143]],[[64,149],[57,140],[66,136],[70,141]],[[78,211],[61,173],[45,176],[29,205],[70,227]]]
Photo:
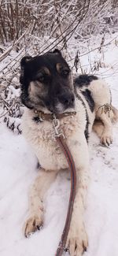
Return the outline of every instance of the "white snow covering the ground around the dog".
[[[93,54],[94,57],[98,55]],[[105,48],[100,70],[118,108],[118,46]],[[83,63],[87,64],[87,57]],[[47,192],[45,222],[41,231],[24,238],[28,217],[28,190],[38,175],[37,160],[22,135],[0,124],[0,255],[54,256],[65,224],[70,181],[60,173]],[[85,213],[89,247],[85,256],[118,256],[118,124],[113,143],[102,147],[93,133],[90,138],[90,189]],[[66,254],[68,255],[68,254]]]

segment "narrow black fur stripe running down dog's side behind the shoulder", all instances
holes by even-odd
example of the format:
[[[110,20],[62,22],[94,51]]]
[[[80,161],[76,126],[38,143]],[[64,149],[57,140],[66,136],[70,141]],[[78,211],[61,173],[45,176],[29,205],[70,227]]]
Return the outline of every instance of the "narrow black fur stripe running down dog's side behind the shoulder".
[[[86,112],[86,121],[87,121],[87,123],[86,123],[86,128],[85,128],[85,131],[84,131],[84,135],[85,135],[85,138],[87,139],[87,143],[88,143],[88,140],[89,140],[89,131],[88,131],[88,128],[89,128],[90,121],[89,121],[89,115],[88,115],[88,113],[87,113],[87,107],[86,107],[85,103],[83,102],[83,99],[82,99],[82,98],[80,97],[80,95],[78,95],[77,93],[76,93],[76,98],[78,98],[79,101],[82,102],[82,104],[83,104],[83,106],[84,106],[84,109],[85,109],[85,112]]]

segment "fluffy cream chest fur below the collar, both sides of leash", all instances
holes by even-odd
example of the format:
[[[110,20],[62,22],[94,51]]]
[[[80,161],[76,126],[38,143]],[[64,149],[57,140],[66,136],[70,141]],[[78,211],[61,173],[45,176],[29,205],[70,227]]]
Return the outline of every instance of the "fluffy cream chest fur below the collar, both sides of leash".
[[[60,132],[64,133],[67,144],[72,138],[74,138],[76,144],[78,138],[76,138],[75,134],[79,125],[77,117],[66,117],[60,123]],[[42,168],[59,170],[68,167],[65,156],[55,139],[53,123],[49,121],[34,121],[31,113],[29,115],[28,111],[26,111],[22,126],[24,136],[35,151]]]

